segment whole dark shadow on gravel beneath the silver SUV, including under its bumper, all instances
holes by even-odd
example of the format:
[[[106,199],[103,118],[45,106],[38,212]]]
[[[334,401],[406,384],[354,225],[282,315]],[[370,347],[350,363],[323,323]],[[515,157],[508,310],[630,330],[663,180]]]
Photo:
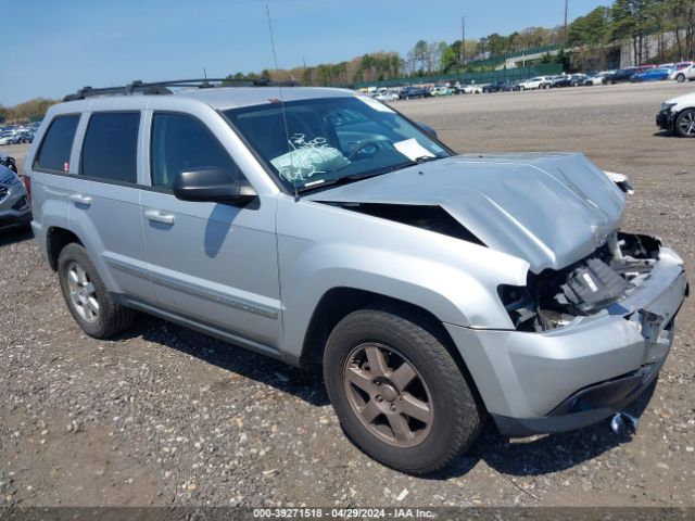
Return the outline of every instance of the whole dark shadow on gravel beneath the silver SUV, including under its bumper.
[[[122,335],[121,340],[138,336],[289,393],[313,406],[330,404],[319,367],[313,370],[298,369],[147,315],[142,315],[136,327]],[[649,385],[624,410],[640,417],[655,387],[656,383]],[[468,473],[481,460],[497,472],[511,476],[549,474],[581,465],[631,440],[632,434],[629,432],[614,433],[610,419],[571,432],[514,440],[502,435],[489,419],[480,436],[465,455],[456,458],[444,471],[421,478],[440,481],[458,478]]]

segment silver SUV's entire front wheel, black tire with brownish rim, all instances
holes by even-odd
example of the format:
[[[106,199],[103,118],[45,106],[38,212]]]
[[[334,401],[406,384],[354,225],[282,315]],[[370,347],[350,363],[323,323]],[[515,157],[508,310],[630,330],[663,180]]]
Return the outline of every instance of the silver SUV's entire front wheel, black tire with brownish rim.
[[[483,415],[433,327],[407,313],[363,309],[343,318],[324,355],[324,379],[350,439],[412,474],[446,467],[480,431]]]

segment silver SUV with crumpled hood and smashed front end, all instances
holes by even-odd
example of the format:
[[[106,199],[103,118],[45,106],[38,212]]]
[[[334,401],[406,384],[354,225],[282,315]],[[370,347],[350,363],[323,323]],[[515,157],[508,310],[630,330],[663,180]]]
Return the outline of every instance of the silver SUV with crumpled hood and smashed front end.
[[[28,153],[36,239],[87,334],[137,310],[323,364],[350,437],[412,473],[488,416],[577,429],[657,378],[687,282],[620,230],[624,177],[456,155],[348,90],[182,85],[85,89]]]

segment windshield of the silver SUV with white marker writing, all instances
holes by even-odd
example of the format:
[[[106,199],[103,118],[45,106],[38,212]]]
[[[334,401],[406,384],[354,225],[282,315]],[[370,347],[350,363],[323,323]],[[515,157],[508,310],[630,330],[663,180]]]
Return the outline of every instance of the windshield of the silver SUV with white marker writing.
[[[450,155],[419,127],[368,97],[273,103],[225,115],[279,179],[299,191]]]

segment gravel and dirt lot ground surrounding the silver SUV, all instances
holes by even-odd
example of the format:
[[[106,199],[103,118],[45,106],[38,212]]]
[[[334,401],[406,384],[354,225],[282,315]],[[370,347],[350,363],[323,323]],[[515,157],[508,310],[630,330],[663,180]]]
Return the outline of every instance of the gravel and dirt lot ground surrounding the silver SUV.
[[[583,151],[629,174],[627,229],[695,267],[695,141],[656,132],[690,85],[401,102],[466,152]],[[3,148],[23,158],[25,147]],[[0,232],[0,506],[695,505],[695,305],[639,433],[607,422],[509,441],[488,425],[450,472],[415,479],[342,434],[320,377],[143,317],[112,342],[78,330],[27,232]]]

